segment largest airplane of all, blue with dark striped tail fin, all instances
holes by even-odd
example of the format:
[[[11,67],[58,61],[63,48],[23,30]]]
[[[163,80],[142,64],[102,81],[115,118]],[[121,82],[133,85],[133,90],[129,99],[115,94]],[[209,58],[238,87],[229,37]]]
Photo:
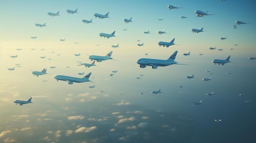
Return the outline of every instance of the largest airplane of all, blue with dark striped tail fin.
[[[166,60],[162,59],[139,59],[137,61],[137,64],[139,64],[140,68],[146,68],[146,66],[152,66],[153,69],[156,69],[158,66],[170,66],[172,64],[178,64],[178,62],[175,62],[175,57],[177,55],[178,51],[175,51],[171,57],[169,57]],[[185,65],[185,64],[181,64]]]

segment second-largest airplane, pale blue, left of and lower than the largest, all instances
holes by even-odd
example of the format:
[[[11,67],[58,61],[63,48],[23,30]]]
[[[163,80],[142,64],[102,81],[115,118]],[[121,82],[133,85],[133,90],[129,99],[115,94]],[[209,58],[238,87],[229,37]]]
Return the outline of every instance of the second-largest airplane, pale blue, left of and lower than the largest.
[[[57,81],[61,80],[61,81],[67,81],[68,84],[73,84],[73,82],[76,83],[81,83],[81,82],[92,82],[89,77],[92,73],[88,73],[88,75],[85,75],[85,77],[82,78],[77,78],[77,77],[69,77],[69,76],[65,76],[65,75],[57,75],[54,78],[57,79]]]

